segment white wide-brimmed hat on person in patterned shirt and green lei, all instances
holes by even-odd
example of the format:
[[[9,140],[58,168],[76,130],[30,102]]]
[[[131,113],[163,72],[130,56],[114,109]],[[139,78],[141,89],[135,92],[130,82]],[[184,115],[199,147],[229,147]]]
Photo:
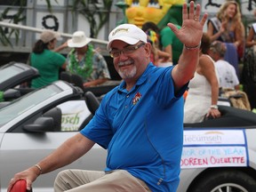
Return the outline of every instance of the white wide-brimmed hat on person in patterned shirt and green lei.
[[[68,47],[83,47],[91,41],[91,38],[85,36],[84,31],[76,31],[73,34],[72,39],[68,40]]]

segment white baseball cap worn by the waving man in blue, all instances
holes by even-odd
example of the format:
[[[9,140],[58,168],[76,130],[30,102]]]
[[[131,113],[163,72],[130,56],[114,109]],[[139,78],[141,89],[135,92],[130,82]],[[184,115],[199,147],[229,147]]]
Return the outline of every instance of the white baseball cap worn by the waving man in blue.
[[[110,32],[107,50],[110,50],[110,46],[115,40],[121,40],[127,44],[137,44],[139,41],[147,43],[147,35],[142,29],[133,24],[122,24]]]

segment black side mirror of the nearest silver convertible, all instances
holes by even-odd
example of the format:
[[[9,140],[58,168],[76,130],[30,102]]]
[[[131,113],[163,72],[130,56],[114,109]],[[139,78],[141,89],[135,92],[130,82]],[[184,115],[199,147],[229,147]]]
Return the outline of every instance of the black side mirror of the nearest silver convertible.
[[[41,116],[33,124],[25,124],[22,129],[26,132],[53,132],[54,120],[49,116]]]

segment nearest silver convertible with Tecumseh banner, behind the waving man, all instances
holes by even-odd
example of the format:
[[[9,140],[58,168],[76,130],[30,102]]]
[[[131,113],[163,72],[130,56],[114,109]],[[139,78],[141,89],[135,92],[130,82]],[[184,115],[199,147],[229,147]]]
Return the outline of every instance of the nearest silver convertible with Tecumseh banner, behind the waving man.
[[[80,88],[57,81],[0,108],[0,192],[14,173],[36,164],[83,128],[97,108],[92,100],[89,104],[90,110]],[[231,107],[220,107],[220,112],[219,119],[185,124],[178,192],[256,191],[256,114]],[[103,170],[106,154],[95,145],[73,164],[41,175],[33,191],[53,191],[63,169]]]

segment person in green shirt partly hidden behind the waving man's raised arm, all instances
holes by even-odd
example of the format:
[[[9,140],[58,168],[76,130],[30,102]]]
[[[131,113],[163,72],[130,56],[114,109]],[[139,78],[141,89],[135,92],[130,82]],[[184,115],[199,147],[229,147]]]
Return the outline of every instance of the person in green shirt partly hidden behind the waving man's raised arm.
[[[180,29],[180,26],[176,25]],[[183,44],[175,36],[171,28],[165,27],[160,31],[161,44],[164,52],[171,54],[172,64],[176,65],[180,59],[180,54],[183,50]]]

